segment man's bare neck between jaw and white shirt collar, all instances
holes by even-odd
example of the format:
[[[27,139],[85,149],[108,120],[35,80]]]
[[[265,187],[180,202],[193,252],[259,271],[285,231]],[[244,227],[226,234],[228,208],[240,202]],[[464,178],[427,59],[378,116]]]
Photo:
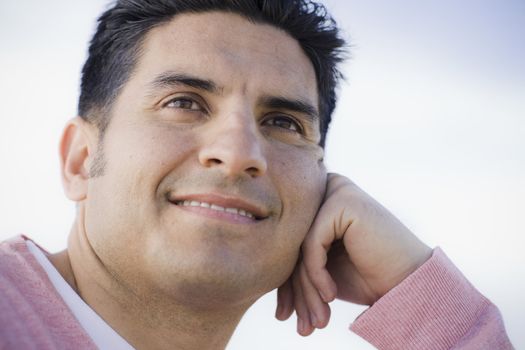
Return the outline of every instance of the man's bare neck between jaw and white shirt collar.
[[[68,250],[50,257],[78,295],[136,349],[224,349],[252,304],[195,304],[122,286],[104,268],[78,223]]]

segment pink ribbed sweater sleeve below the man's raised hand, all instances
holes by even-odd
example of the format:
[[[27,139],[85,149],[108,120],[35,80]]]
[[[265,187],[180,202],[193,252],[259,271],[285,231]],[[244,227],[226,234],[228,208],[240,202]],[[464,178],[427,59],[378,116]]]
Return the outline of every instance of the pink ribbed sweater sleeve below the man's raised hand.
[[[440,248],[350,329],[378,349],[513,349],[498,309]]]

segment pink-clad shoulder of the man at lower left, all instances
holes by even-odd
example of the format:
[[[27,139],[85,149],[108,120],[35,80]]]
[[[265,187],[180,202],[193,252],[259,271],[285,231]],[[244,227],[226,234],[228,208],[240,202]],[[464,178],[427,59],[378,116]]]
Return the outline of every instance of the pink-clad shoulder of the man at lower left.
[[[26,240],[0,243],[0,348],[93,348]]]

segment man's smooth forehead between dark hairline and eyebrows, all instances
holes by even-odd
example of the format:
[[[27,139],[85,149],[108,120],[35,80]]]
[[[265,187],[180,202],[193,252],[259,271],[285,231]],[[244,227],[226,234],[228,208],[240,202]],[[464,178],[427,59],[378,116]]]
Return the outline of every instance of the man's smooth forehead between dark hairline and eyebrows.
[[[145,37],[134,78],[177,71],[213,80],[225,93],[292,95],[317,106],[314,68],[286,32],[236,14],[180,14]]]

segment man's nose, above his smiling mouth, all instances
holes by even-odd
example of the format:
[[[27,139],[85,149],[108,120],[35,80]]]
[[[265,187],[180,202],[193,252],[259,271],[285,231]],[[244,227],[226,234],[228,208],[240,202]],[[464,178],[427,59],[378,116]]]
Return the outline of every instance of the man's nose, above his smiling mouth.
[[[199,162],[204,167],[220,169],[228,177],[266,173],[268,164],[253,119],[232,116],[216,120],[209,129],[199,150]]]

